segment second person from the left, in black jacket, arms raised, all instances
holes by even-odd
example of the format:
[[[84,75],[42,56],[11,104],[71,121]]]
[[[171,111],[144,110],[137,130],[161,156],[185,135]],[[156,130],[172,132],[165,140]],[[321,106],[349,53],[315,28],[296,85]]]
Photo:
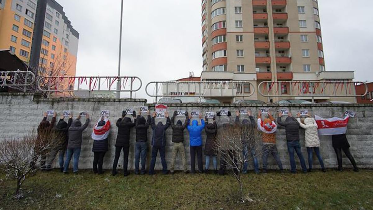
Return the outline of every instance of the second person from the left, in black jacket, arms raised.
[[[69,139],[69,128],[72,123],[72,116],[69,115],[69,120],[65,122],[65,116],[61,115],[60,120],[58,121],[57,125],[53,128],[54,138],[55,141],[60,145],[57,150],[53,150],[50,154],[50,157],[47,160],[47,170],[51,170],[51,166],[53,163],[54,158],[57,155],[59,156],[59,164],[60,164],[60,171],[63,172],[63,158],[66,153],[66,147],[68,146],[68,139]]]

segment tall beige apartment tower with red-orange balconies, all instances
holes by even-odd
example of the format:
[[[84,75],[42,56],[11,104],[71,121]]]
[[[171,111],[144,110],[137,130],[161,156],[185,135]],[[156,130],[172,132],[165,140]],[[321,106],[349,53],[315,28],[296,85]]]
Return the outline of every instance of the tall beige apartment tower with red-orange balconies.
[[[326,72],[317,0],[202,0],[202,45],[201,80],[249,81],[247,93],[261,90],[263,81],[354,79],[353,72]],[[289,89],[280,87],[282,95],[300,98]],[[280,100],[258,92],[244,99]],[[235,101],[234,95],[218,99]],[[316,100],[337,99],[325,94]]]

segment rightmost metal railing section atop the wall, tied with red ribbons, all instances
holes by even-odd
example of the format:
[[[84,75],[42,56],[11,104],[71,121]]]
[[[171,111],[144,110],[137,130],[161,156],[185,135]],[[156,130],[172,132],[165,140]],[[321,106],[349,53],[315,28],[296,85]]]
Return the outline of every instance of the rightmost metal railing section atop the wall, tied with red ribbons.
[[[365,85],[363,95],[357,95],[355,86]],[[264,97],[361,97],[368,93],[364,82],[352,81],[264,81],[258,85],[258,93]]]

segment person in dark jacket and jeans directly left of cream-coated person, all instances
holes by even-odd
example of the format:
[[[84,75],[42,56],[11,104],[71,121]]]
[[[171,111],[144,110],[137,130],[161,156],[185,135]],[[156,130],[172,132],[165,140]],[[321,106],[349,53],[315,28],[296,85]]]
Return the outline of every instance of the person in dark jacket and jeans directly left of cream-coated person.
[[[286,118],[285,122],[281,120],[282,113],[279,112],[279,117],[277,119],[277,123],[283,127],[285,127],[286,132],[286,141],[288,144],[288,152],[290,156],[290,166],[291,166],[291,173],[296,173],[295,159],[294,159],[294,150],[297,153],[299,160],[301,162],[302,170],[304,173],[307,173],[307,166],[305,165],[305,160],[302,154],[301,145],[299,143],[299,127],[300,124],[298,120],[292,116],[289,112],[289,116]]]

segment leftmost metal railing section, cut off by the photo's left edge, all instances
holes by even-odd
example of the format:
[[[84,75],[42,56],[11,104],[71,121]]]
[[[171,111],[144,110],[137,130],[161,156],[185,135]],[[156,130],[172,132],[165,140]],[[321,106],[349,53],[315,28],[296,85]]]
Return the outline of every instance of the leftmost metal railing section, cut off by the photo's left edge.
[[[0,71],[0,87],[24,87],[26,92],[27,86],[35,81],[35,74],[31,71]]]

